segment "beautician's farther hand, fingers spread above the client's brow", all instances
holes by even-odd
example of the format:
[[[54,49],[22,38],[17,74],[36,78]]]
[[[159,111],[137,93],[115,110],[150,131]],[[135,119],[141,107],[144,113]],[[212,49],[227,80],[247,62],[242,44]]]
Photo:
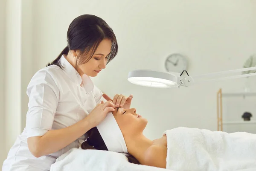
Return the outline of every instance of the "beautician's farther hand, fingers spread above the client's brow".
[[[113,104],[116,104],[119,107],[123,107],[124,109],[130,109],[131,100],[133,98],[132,94],[129,97],[126,97],[122,94],[116,94],[113,100],[106,94],[103,94],[102,96],[104,97],[104,99],[108,101],[113,101]]]

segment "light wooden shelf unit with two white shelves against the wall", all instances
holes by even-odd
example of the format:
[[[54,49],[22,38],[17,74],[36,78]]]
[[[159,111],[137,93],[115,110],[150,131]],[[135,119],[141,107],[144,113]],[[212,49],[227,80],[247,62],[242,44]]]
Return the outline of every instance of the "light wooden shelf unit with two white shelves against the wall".
[[[221,88],[217,92],[217,128],[218,131],[223,131],[223,125],[234,125],[234,124],[256,124],[256,121],[224,121],[223,122],[223,97],[248,97],[256,96],[256,93],[222,93]]]

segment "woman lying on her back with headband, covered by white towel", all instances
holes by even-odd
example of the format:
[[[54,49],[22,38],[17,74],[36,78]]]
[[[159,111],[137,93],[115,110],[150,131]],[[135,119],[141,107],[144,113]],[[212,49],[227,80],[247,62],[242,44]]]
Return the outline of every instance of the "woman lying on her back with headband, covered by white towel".
[[[124,152],[129,162],[172,170],[256,170],[256,134],[179,127],[152,141],[143,135],[146,125],[134,108],[118,107],[81,148]]]

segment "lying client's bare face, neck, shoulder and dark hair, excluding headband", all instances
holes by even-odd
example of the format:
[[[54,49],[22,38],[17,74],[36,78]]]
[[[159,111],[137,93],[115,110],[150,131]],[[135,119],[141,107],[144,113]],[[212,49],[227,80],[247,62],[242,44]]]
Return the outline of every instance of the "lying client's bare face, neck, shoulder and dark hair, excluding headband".
[[[129,162],[166,168],[166,135],[153,141],[146,138],[143,135],[143,130],[148,121],[138,115],[134,108],[125,110],[118,107],[112,113],[125,139],[128,154],[130,154],[127,156]],[[110,131],[113,132],[113,130]],[[98,150],[108,150],[96,127],[89,130],[88,136],[87,141],[81,145],[82,149],[93,149],[94,147]]]

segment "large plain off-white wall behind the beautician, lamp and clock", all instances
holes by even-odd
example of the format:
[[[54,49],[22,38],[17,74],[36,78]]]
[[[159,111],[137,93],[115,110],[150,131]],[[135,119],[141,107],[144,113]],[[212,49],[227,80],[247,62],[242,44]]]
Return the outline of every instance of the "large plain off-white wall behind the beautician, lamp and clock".
[[[66,46],[67,28],[75,17],[102,17],[116,34],[119,53],[93,80],[109,96],[134,95],[133,107],[148,119],[145,134],[150,138],[178,126],[216,130],[217,90],[243,91],[244,79],[153,89],[130,84],[130,70],[164,71],[167,55],[180,52],[189,58],[188,72],[197,75],[241,68],[256,52],[256,4],[251,0],[44,0],[34,5],[33,72]],[[250,79],[255,85],[255,77]]]

